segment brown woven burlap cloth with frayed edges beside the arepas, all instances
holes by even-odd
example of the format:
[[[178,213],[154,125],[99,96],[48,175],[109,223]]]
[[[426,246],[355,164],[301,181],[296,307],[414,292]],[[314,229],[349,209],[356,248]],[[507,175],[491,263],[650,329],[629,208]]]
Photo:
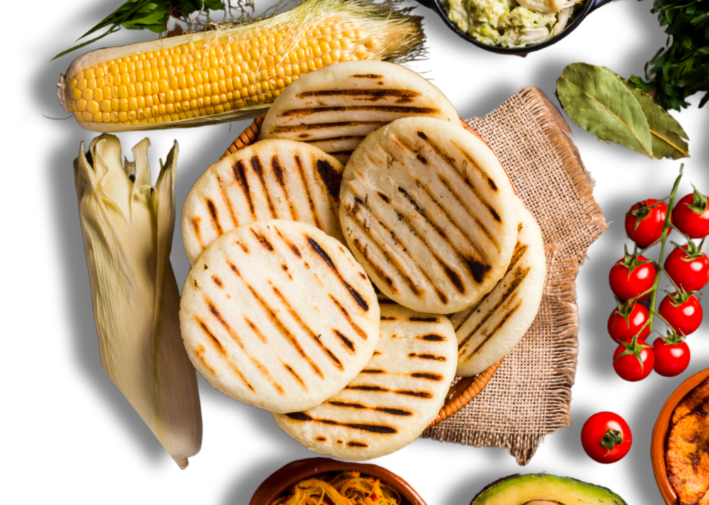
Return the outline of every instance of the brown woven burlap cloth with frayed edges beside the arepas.
[[[506,448],[526,466],[545,436],[571,426],[579,354],[576,276],[608,223],[574,133],[543,91],[525,86],[484,118],[467,123],[497,154],[537,218],[547,278],[535,321],[485,389],[421,437]]]

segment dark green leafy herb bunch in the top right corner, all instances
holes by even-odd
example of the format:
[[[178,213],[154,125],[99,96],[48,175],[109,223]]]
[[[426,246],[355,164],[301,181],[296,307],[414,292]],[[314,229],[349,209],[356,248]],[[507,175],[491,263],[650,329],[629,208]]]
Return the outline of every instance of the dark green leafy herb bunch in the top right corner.
[[[700,8],[705,0],[653,0],[665,28],[667,41],[645,64],[644,76],[631,74],[630,80],[665,110],[681,112],[687,100],[700,95],[699,106],[709,101],[709,11]],[[706,5],[706,4],[704,4]]]

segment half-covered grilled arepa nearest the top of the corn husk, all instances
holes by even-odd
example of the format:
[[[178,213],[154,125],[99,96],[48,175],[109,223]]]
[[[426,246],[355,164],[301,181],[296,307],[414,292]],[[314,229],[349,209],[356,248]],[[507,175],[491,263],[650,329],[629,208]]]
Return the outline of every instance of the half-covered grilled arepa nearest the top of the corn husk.
[[[343,169],[320,149],[291,140],[257,142],[213,164],[182,205],[190,265],[221,234],[257,220],[306,222],[344,242],[337,218]]]

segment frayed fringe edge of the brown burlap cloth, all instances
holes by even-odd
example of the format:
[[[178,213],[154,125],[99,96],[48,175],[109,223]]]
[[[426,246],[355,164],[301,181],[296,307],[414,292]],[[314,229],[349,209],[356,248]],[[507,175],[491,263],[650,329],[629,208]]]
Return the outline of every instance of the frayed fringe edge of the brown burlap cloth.
[[[462,431],[445,422],[435,429],[424,431],[421,438],[457,443],[476,448],[503,448],[519,466],[526,466],[545,443],[545,436],[571,427],[571,399],[576,382],[579,356],[579,306],[576,277],[580,266],[588,259],[586,251],[608,229],[601,205],[596,201],[596,179],[586,169],[579,148],[574,143],[571,127],[564,121],[549,97],[534,86],[523,86],[513,97],[521,101],[532,115],[568,174],[584,211],[590,218],[588,244],[575,255],[564,258],[560,244],[547,244],[547,279],[545,293],[553,314],[554,371],[548,383],[554,392],[547,405],[545,426],[541,433],[492,433],[491,431]],[[496,380],[495,377],[491,382]]]

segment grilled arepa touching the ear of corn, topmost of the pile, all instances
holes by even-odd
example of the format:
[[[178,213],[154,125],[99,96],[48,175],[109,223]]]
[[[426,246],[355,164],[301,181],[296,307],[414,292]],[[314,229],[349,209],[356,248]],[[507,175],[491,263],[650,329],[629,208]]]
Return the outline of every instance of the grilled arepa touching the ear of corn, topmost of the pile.
[[[450,100],[416,72],[374,60],[342,62],[288,86],[266,114],[261,138],[308,142],[346,163],[369,132],[412,115],[458,122]]]

